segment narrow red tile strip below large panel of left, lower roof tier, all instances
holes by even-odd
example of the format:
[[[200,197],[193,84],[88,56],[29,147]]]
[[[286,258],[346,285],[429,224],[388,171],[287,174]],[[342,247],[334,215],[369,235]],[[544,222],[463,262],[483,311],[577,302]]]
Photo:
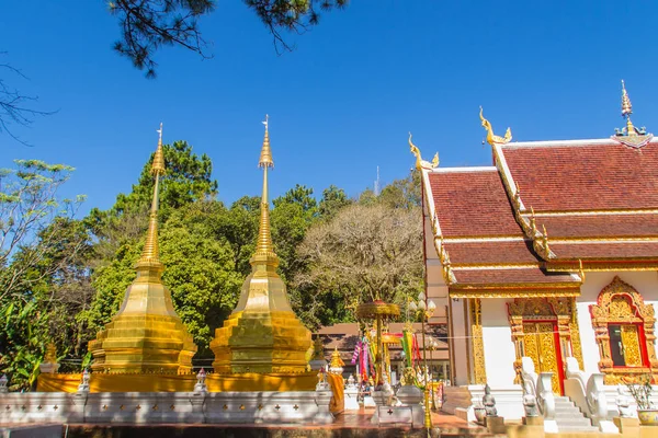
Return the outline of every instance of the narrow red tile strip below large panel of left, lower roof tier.
[[[453,265],[537,263],[529,241],[444,242]]]

